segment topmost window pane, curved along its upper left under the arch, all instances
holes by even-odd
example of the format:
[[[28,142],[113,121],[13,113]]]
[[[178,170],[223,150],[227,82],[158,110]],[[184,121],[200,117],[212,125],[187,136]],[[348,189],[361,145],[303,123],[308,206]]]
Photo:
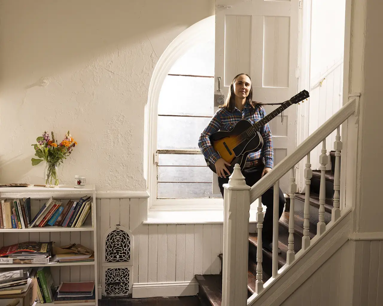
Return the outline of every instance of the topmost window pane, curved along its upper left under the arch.
[[[170,69],[170,74],[214,76],[214,37],[188,50]]]

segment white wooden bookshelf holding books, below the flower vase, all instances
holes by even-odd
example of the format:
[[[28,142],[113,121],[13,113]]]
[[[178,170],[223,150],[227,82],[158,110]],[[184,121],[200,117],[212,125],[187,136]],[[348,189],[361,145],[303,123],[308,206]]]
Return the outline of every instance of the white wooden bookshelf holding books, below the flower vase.
[[[96,302],[68,303],[65,306],[98,305],[98,277],[97,277],[97,223],[96,223],[96,189],[95,185],[85,185],[84,188],[74,188],[72,185],[59,185],[57,188],[46,187],[5,187],[0,188],[0,197],[17,199],[31,198],[31,218],[39,211],[40,207],[50,198],[54,200],[74,200],[90,195],[92,198],[92,214],[80,228],[67,228],[62,226],[33,227],[25,229],[4,228],[0,229],[0,246],[7,246],[23,241],[53,241],[55,245],[80,243],[94,250],[94,261],[69,262],[49,264],[0,264],[0,268],[26,268],[26,267],[51,267],[54,283],[58,286],[61,282],[95,282]],[[61,201],[65,205],[67,201]],[[93,225],[92,225],[93,224]],[[92,279],[93,278],[93,279]],[[101,298],[101,297],[100,297]],[[1,301],[1,300],[0,300]],[[54,303],[37,303],[36,306],[54,305]],[[56,304],[57,305],[57,304]]]

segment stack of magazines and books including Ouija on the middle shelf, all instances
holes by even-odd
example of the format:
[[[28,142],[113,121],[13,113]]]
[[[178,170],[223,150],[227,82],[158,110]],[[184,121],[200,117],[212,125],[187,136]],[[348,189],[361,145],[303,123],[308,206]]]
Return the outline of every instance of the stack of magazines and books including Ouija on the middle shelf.
[[[28,241],[0,249],[1,264],[48,264],[51,257],[52,241]]]

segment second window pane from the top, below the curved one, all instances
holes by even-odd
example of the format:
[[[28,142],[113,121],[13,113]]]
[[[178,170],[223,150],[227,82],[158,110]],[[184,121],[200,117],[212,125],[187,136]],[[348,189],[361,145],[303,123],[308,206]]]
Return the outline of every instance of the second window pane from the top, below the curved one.
[[[158,114],[213,116],[213,107],[213,78],[166,76],[158,100]]]

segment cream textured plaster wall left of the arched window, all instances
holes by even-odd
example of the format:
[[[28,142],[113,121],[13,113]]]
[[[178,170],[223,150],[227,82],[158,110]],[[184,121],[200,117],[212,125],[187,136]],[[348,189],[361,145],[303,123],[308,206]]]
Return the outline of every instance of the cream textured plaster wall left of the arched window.
[[[42,183],[44,130],[78,142],[61,183],[145,190],[144,107],[152,71],[214,0],[0,1],[0,182]],[[40,78],[48,78],[41,86]]]

